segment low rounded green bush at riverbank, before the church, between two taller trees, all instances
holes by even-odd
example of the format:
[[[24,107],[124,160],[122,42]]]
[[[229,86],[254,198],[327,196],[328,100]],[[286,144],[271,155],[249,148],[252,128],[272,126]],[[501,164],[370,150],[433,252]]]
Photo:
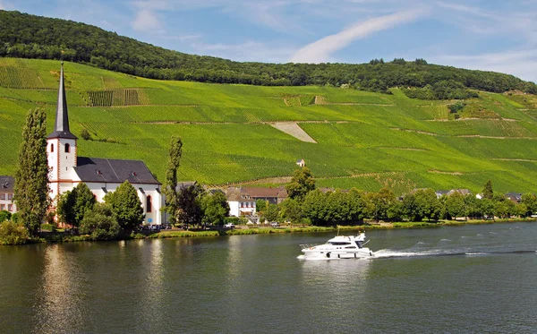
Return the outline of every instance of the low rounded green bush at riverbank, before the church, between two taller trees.
[[[90,235],[92,240],[114,240],[119,231],[113,210],[104,203],[96,203],[81,220],[80,233]]]

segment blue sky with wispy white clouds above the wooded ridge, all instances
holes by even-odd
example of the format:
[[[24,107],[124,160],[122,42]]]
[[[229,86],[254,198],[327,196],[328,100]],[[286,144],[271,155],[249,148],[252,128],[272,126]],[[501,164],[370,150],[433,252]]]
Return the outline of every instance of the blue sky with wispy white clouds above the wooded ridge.
[[[0,9],[241,62],[423,58],[537,82],[537,0],[0,0]]]

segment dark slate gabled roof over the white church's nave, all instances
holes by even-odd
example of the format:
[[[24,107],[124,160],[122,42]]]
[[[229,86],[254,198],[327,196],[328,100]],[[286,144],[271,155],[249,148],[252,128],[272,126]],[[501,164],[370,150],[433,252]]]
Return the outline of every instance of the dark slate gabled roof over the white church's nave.
[[[74,170],[82,182],[160,184],[140,160],[78,157]]]

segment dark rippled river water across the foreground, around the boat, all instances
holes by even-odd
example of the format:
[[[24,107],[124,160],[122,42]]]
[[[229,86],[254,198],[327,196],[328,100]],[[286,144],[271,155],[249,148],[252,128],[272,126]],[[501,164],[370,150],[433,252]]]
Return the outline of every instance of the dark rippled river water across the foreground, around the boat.
[[[0,332],[537,332],[537,224],[0,247]]]

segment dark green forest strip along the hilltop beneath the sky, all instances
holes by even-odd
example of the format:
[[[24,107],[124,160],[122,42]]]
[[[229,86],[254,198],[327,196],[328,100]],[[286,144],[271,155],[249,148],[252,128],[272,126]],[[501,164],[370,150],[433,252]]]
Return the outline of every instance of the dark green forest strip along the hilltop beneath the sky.
[[[470,98],[472,90],[537,93],[533,82],[512,75],[394,59],[369,64],[240,63],[187,55],[74,21],[0,11],[0,56],[64,59],[141,77],[263,86],[336,86],[389,92],[405,87],[412,98]],[[468,90],[471,89],[471,90]]]

